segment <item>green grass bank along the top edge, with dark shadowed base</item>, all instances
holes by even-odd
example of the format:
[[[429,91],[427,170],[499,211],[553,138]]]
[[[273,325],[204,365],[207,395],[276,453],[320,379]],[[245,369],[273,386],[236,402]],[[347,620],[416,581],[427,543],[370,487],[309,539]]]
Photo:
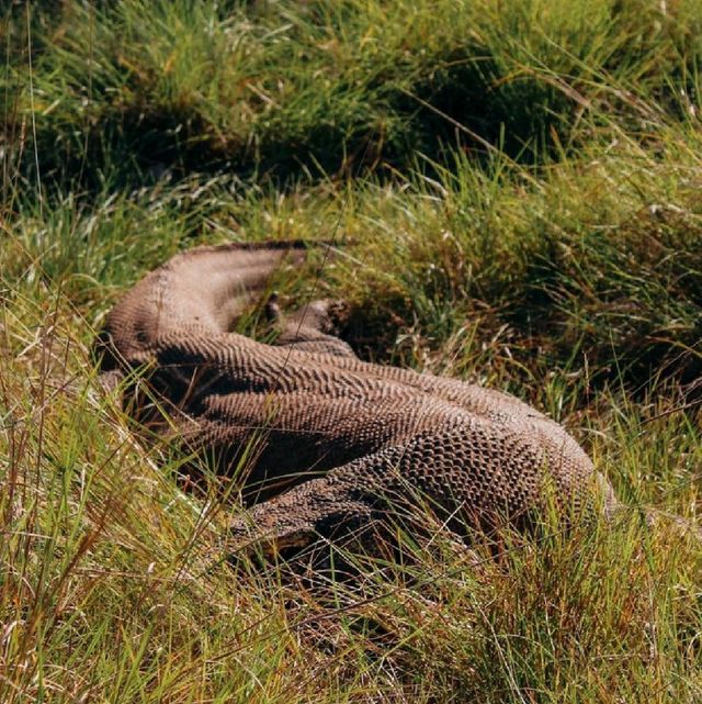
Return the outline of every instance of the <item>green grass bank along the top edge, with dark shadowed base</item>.
[[[539,161],[578,141],[584,115],[645,131],[653,97],[686,119],[699,92],[694,7],[67,3],[53,21],[37,11],[33,75],[19,62],[5,86],[54,177],[99,178],[109,163],[126,180],[225,163],[348,172],[456,143]]]

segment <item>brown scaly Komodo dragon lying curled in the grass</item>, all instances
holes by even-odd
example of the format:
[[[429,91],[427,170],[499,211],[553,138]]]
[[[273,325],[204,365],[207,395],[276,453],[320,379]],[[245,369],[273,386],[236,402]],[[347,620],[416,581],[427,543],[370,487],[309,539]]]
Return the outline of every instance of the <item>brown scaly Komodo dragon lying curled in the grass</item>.
[[[102,335],[104,371],[146,370],[170,416],[150,416],[157,433],[176,428],[224,471],[246,467],[256,505],[231,526],[235,545],[307,545],[418,494],[464,533],[526,528],[545,494],[564,514],[616,506],[558,424],[505,393],[361,361],[325,332],[321,303],[293,316],[275,346],[230,332],[274,269],[303,257],[296,243],[178,255],[124,297]]]

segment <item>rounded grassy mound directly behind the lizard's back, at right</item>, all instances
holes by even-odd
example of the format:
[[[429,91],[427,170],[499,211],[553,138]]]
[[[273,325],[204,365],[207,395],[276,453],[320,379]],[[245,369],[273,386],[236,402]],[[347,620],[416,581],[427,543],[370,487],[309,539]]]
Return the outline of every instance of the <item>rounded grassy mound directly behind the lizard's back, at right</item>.
[[[347,219],[359,254],[340,259],[339,291],[365,319],[375,311],[416,331],[405,359],[421,366],[505,367],[532,382],[561,369],[592,388],[692,381],[697,137],[668,138],[655,156],[631,142],[607,155],[582,149],[539,178],[500,157],[485,169],[458,156],[438,179],[370,188],[354,204],[362,225],[355,212]],[[386,342],[397,354],[396,337]]]

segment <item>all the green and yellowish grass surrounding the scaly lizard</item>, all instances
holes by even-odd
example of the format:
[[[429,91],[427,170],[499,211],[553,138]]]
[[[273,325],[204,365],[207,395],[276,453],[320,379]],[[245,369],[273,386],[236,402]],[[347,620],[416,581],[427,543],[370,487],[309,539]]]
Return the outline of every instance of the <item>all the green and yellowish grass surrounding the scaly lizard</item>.
[[[672,3],[3,9],[0,701],[698,702],[702,11]],[[283,299],[365,357],[566,424],[614,526],[438,536],[325,597],[132,434],[91,345],[200,243],[329,239]],[[253,332],[256,332],[253,329]],[[654,526],[639,506],[656,507]]]

